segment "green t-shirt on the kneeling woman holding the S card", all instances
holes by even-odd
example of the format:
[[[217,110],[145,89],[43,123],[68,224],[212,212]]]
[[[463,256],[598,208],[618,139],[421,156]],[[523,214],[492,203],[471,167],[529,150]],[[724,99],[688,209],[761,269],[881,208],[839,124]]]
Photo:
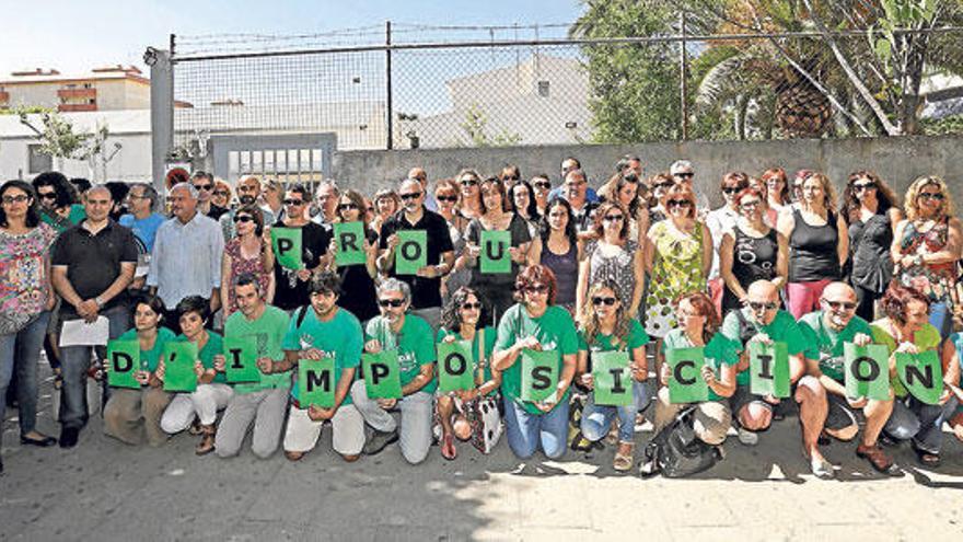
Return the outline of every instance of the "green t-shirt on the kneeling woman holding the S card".
[[[496,350],[511,348],[520,337],[534,336],[542,344],[543,350],[558,353],[558,373],[561,374],[562,356],[576,355],[579,351],[579,337],[571,315],[561,307],[552,305],[539,318],[532,318],[522,304],[514,304],[504,311],[498,323],[498,341]],[[534,404],[522,402],[522,359],[521,356],[511,367],[501,373],[501,393],[507,399],[518,402],[529,414],[543,414]],[[559,404],[568,402],[566,392]]]

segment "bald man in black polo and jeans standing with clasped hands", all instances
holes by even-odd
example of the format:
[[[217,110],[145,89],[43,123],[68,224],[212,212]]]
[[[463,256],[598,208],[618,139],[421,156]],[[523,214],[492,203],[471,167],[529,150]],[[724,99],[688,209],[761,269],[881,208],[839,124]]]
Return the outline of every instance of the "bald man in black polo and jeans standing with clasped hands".
[[[129,326],[127,287],[137,266],[134,232],[109,218],[111,191],[94,186],[83,196],[86,218],[57,238],[51,249],[51,279],[63,299],[62,321],[95,322],[105,316],[109,338],[117,338]],[[100,358],[106,353],[103,346]],[[66,346],[60,350],[63,387],[60,390],[60,447],[77,445],[86,424],[86,371],[91,346]]]

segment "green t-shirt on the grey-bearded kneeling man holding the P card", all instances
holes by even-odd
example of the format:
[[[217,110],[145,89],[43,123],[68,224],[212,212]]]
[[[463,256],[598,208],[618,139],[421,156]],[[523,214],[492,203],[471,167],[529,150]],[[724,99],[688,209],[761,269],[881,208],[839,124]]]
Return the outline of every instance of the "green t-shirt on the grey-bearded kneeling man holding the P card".
[[[421,372],[421,367],[434,364],[438,357],[434,351],[434,330],[420,316],[405,315],[402,331],[394,334],[383,316],[374,316],[368,321],[364,330],[364,339],[376,338],[381,343],[382,350],[398,350],[398,366],[402,369],[402,388],[407,385]],[[438,388],[438,378],[432,376],[431,381],[419,391],[434,393]]]

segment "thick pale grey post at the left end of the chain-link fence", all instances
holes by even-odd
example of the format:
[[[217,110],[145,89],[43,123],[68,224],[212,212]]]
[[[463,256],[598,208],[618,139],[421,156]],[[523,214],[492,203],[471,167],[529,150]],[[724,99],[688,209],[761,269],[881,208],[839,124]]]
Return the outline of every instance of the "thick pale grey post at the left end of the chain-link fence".
[[[151,180],[163,193],[164,168],[174,149],[174,65],[170,50],[153,47],[148,47],[143,61],[151,69]]]

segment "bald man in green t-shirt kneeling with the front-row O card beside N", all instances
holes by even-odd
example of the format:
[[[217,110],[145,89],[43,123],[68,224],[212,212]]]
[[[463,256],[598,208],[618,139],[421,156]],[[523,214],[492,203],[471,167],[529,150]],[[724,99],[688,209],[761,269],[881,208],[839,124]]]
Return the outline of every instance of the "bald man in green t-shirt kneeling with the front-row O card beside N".
[[[877,439],[893,412],[893,395],[886,401],[849,397],[846,395],[844,343],[866,346],[872,343],[869,323],[856,315],[856,291],[845,282],[832,282],[823,289],[821,310],[799,320],[808,348],[808,372],[820,380],[826,390],[828,414],[826,433],[839,440],[852,440],[859,433],[855,411],[862,410],[866,429],[856,454],[869,461],[877,471],[896,475],[900,471],[893,460],[877,443]]]

